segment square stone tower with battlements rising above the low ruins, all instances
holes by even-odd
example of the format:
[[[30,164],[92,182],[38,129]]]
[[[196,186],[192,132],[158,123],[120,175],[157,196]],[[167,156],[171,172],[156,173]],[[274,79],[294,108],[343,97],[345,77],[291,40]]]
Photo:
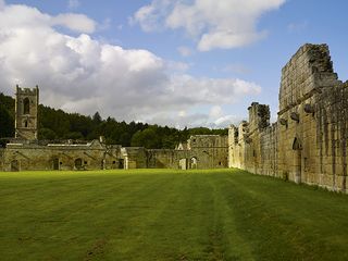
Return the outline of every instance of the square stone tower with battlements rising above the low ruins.
[[[15,138],[37,139],[37,113],[39,104],[39,88],[20,88],[15,94]]]

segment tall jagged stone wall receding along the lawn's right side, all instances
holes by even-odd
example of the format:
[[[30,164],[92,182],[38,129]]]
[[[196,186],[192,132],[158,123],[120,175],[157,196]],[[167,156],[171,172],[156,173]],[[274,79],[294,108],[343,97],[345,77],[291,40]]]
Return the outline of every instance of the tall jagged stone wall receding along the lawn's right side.
[[[249,123],[229,128],[229,166],[346,191],[347,86],[326,45],[302,46],[282,70],[277,122],[252,103]]]

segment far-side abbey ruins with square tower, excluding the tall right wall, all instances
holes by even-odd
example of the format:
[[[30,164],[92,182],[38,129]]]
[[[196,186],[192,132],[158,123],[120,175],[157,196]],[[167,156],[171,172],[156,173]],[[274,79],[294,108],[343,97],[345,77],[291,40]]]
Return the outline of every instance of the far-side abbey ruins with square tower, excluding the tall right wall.
[[[0,171],[227,167],[227,136],[191,136],[175,150],[124,148],[102,138],[85,144],[37,140],[38,104],[38,87],[16,86],[15,138],[0,148]]]

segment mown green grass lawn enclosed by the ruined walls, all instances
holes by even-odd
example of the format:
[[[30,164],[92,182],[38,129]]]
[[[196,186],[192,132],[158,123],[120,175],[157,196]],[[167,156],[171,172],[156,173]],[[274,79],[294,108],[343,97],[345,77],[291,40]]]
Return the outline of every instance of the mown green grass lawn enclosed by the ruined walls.
[[[0,260],[348,260],[348,196],[239,170],[0,173]]]

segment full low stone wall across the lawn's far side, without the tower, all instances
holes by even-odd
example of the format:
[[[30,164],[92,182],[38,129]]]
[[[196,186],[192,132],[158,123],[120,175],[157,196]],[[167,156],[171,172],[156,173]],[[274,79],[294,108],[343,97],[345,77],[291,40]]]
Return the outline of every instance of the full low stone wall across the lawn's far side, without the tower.
[[[227,167],[227,136],[192,136],[185,150],[16,141],[0,150],[0,171]]]

